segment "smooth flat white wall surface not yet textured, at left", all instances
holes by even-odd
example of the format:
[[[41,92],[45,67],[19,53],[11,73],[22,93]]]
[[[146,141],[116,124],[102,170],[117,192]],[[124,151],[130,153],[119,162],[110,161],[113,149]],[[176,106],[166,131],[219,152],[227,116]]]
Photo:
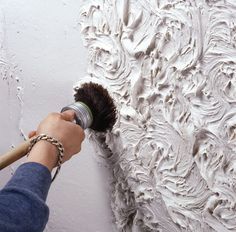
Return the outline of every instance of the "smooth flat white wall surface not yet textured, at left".
[[[22,141],[21,133],[26,136],[49,112],[73,102],[73,85],[83,79],[87,66],[78,25],[80,4],[0,0],[1,153]],[[96,159],[85,141],[80,155],[63,165],[49,193],[51,214],[45,231],[115,231],[110,173]],[[1,171],[1,186],[10,178],[11,168]]]

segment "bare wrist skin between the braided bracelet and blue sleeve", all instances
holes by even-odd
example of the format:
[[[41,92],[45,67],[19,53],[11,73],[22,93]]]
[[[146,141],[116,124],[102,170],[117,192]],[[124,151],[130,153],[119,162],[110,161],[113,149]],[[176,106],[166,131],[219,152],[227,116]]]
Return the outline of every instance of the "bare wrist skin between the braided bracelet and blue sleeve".
[[[57,166],[58,150],[55,145],[41,140],[38,141],[29,152],[27,162],[36,162],[46,166],[52,171]]]

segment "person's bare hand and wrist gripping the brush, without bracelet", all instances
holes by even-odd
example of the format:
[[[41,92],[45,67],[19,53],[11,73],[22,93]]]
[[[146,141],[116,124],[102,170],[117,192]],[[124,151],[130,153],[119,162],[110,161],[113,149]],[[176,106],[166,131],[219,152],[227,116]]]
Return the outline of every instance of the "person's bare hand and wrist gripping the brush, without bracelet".
[[[29,133],[29,137],[46,134],[57,139],[64,147],[63,162],[65,162],[81,150],[81,143],[85,138],[83,129],[73,123],[74,118],[75,113],[72,110],[63,113],[51,113],[39,124],[36,131]],[[56,154],[56,152],[57,150],[54,145],[47,141],[39,141],[34,145],[29,154],[29,161],[34,162],[36,159],[35,162],[39,162],[40,159],[40,163],[42,163],[41,160],[43,159],[42,164],[51,170],[56,166],[55,155],[54,162],[51,160],[50,165],[48,165],[47,161],[52,158],[52,153]],[[46,157],[43,158],[42,156],[45,156],[45,153]]]

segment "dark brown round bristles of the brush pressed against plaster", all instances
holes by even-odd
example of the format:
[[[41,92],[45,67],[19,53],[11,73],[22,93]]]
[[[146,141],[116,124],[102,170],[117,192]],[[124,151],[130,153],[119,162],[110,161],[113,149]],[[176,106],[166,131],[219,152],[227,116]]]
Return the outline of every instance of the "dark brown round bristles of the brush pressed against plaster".
[[[76,89],[75,101],[86,104],[92,112],[95,131],[111,130],[116,122],[116,107],[108,91],[96,83],[85,83]]]

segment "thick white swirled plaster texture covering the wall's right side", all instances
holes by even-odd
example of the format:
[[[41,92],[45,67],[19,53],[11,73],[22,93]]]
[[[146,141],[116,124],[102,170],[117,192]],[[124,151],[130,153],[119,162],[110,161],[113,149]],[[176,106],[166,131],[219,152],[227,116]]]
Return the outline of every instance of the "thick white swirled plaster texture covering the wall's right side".
[[[119,231],[236,231],[235,0],[87,0],[80,22],[119,110],[91,133]]]

